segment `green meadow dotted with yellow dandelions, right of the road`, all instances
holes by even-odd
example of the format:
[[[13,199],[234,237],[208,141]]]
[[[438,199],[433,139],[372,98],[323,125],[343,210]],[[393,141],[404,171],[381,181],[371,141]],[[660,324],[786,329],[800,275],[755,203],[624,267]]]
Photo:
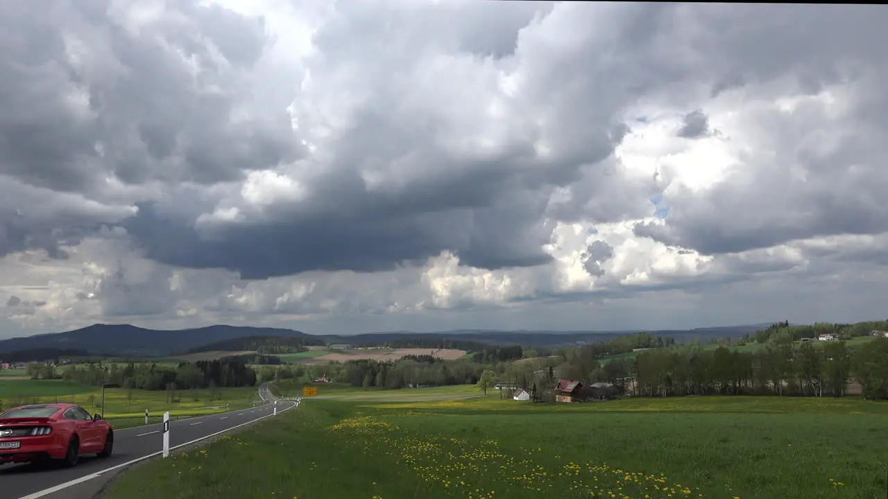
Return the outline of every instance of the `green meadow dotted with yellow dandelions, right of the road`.
[[[874,499],[885,424],[888,404],[854,399],[319,400],[139,466],[107,496]]]

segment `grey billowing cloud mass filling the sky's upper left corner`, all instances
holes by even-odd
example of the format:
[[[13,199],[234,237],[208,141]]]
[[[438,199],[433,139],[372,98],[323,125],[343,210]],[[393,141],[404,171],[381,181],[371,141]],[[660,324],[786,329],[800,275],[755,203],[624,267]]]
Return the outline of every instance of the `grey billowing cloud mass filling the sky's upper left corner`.
[[[0,191],[14,202],[0,200],[0,256],[64,257],[59,244],[114,223],[125,207],[102,204],[128,194],[109,177],[213,185],[303,154],[283,109],[237,107],[252,97],[237,71],[266,47],[262,20],[187,1],[131,28],[129,6],[4,3]]]

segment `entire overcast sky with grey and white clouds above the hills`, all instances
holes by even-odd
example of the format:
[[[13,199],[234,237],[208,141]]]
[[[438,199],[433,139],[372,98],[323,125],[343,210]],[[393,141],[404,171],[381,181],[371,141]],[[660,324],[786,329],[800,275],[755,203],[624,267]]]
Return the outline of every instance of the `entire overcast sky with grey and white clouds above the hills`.
[[[888,315],[883,5],[2,5],[0,337]]]

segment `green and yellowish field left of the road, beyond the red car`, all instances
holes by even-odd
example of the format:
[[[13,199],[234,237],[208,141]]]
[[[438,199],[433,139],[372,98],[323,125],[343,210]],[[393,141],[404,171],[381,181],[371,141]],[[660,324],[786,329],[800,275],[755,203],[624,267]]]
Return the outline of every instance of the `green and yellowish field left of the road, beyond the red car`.
[[[145,423],[149,416],[204,416],[230,408],[251,405],[258,400],[258,388],[222,388],[216,390],[178,390],[170,400],[167,392],[147,390],[105,390],[105,416],[115,427]],[[0,408],[41,402],[68,402],[83,406],[91,413],[101,410],[101,389],[61,380],[0,380]],[[156,421],[149,421],[156,423]]]

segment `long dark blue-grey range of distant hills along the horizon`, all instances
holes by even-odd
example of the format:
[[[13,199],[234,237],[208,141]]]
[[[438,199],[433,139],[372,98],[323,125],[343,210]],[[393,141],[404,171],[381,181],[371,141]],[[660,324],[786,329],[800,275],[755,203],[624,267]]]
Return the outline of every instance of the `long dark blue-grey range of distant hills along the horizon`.
[[[521,330],[501,331],[491,329],[460,329],[434,333],[415,333],[409,331],[367,333],[361,335],[308,335],[301,331],[278,328],[253,328],[249,326],[208,326],[196,329],[144,329],[130,324],[94,324],[92,326],[66,331],[36,335],[33,337],[15,337],[0,341],[0,358],[4,353],[20,352],[34,349],[76,349],[85,350],[94,355],[162,357],[182,352],[196,352],[197,349],[218,345],[220,342],[249,337],[299,337],[304,338],[302,345],[348,344],[392,345],[421,342],[432,344],[443,343],[475,343],[485,345],[523,345],[527,347],[581,345],[592,341],[604,341],[636,333],[649,333],[654,336],[672,337],[678,343],[698,339],[702,343],[711,338],[737,338],[747,333],[762,329],[763,325],[727,326],[718,328],[698,329],[663,329],[663,330],[624,330],[624,331],[552,331],[552,330]],[[446,341],[449,340],[449,341]],[[246,343],[250,343],[247,341]],[[225,345],[226,348],[216,350],[251,350],[240,348],[244,342]],[[239,348],[234,348],[238,346]]]

